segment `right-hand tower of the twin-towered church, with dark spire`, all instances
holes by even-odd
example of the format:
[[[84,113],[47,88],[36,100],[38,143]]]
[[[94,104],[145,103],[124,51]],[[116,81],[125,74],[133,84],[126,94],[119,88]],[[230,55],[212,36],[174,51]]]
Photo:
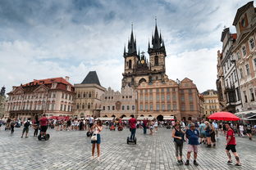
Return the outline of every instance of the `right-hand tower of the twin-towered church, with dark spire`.
[[[158,34],[158,25],[156,22],[154,35],[152,35],[152,41],[151,41],[152,47],[148,47],[148,53],[149,53],[149,61],[151,65],[151,70],[154,74],[162,74],[162,76],[166,72],[165,67],[165,57],[167,56],[164,42],[162,40],[162,35]]]

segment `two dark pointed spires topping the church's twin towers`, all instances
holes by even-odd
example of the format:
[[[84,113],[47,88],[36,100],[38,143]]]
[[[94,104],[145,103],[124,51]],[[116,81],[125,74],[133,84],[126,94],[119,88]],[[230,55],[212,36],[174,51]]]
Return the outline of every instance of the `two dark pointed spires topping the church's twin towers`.
[[[164,42],[162,40],[162,35],[161,33],[158,34],[157,22],[155,25],[154,34],[152,35],[151,44],[152,44],[152,47],[150,46],[150,43],[148,47],[149,54],[152,53],[153,51],[162,51],[166,53]],[[126,45],[124,48],[124,57],[126,56],[137,56],[139,58],[139,54],[137,54],[136,38],[134,38],[134,34],[133,34],[133,25],[131,25],[130,40],[128,40],[128,51],[126,52]]]

